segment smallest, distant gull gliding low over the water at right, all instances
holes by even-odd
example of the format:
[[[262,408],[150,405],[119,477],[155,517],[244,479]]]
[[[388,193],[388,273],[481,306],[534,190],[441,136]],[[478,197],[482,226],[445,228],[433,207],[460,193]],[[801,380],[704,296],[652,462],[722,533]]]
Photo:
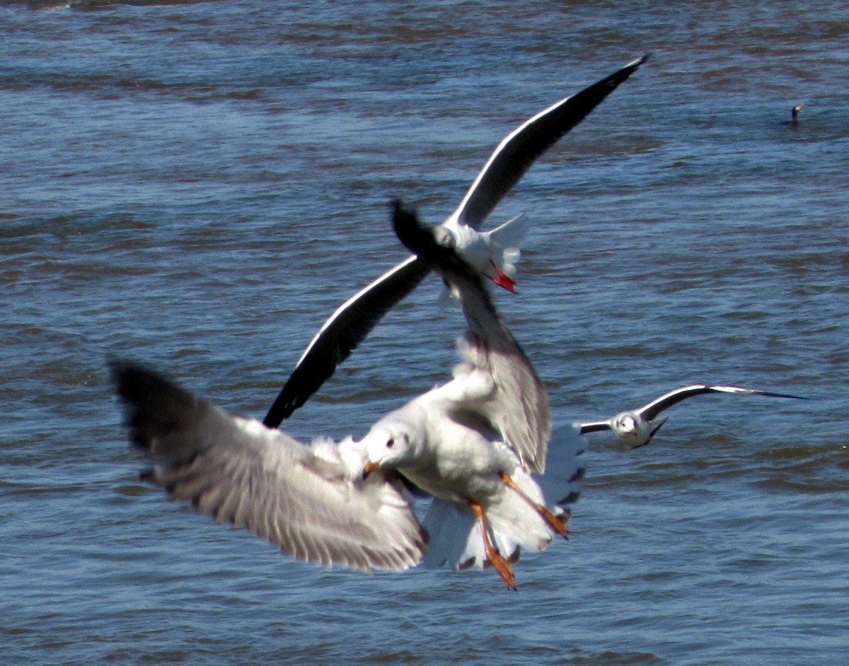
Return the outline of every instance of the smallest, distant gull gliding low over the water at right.
[[[640,407],[634,411],[622,411],[615,417],[606,421],[589,421],[587,423],[579,423],[578,427],[581,434],[595,433],[599,430],[612,430],[616,434],[616,439],[620,443],[627,445],[632,449],[638,446],[649,444],[651,438],[655,436],[661,426],[666,423],[666,418],[655,419],[655,417],[665,410],[666,407],[671,407],[681,400],[685,400],[693,395],[701,395],[705,393],[736,393],[743,395],[766,395],[771,398],[794,398],[796,400],[805,400],[798,395],[787,395],[784,393],[772,393],[770,391],[758,391],[756,389],[741,389],[738,386],[717,386],[708,384],[693,384],[691,386],[683,386],[680,389],[675,389],[664,395],[661,395],[657,400],[649,402],[648,405]]]

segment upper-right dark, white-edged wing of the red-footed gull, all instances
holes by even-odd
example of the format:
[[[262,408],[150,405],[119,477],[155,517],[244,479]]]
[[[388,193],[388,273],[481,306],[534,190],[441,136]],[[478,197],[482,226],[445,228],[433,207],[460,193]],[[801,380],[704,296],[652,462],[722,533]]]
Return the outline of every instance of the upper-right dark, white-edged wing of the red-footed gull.
[[[469,187],[469,192],[454,213],[458,221],[479,229],[487,215],[537,158],[586,118],[648,57],[644,55],[576,95],[561,99],[510,132]]]

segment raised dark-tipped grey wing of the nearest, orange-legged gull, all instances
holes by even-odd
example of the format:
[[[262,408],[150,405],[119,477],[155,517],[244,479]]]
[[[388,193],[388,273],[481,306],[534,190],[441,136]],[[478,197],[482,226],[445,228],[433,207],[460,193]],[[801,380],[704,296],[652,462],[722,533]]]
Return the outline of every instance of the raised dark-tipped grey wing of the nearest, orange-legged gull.
[[[475,367],[486,367],[497,390],[485,416],[533,472],[543,473],[551,433],[548,395],[537,372],[499,316],[480,274],[453,251],[436,243],[416,216],[395,204],[393,224],[401,242],[441,273],[458,292],[469,324],[466,337]]]

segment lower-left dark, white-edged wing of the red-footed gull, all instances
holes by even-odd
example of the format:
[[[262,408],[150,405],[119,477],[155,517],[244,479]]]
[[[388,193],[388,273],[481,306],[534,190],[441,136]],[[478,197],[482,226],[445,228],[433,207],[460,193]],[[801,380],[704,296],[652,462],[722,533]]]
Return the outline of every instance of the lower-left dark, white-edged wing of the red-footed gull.
[[[411,256],[340,305],[301,355],[262,423],[268,428],[278,428],[429,272],[430,266]]]

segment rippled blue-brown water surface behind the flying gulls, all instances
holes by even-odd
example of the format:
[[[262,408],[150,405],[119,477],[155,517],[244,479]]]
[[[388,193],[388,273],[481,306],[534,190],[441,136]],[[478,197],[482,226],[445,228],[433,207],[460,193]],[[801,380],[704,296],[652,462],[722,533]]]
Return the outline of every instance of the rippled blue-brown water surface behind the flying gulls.
[[[0,4],[0,662],[844,662],[843,3],[51,4]],[[313,568],[138,482],[107,358],[261,417],[404,256],[389,199],[441,221],[506,132],[647,51],[493,215],[531,217],[498,304],[559,419],[692,382],[812,400],[594,436],[516,594]],[[288,431],[362,435],[444,380],[438,289]]]

